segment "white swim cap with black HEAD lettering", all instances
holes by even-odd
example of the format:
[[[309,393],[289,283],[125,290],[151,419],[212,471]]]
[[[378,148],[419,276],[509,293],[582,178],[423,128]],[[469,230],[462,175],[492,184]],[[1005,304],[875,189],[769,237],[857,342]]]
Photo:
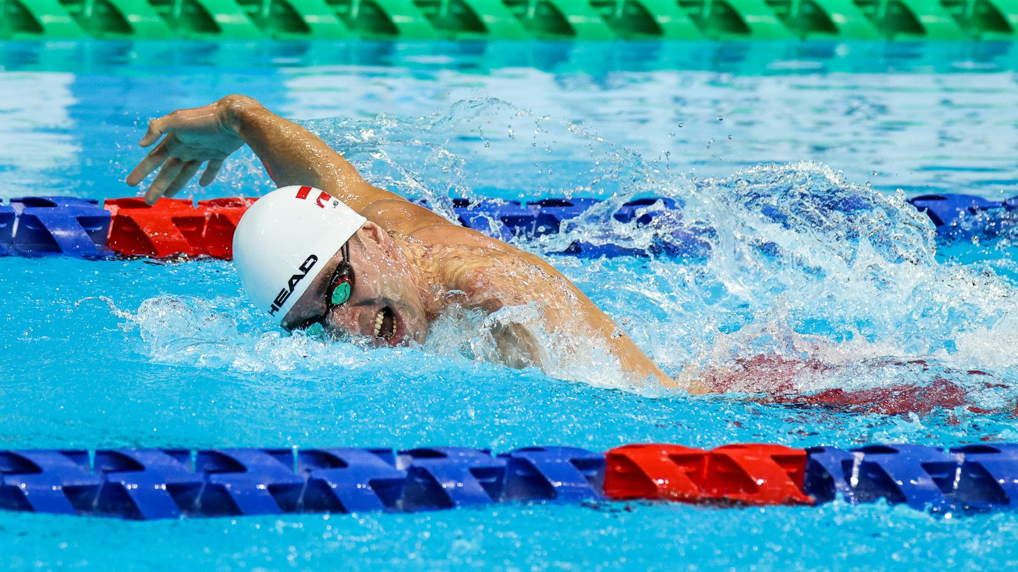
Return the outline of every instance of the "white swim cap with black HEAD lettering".
[[[282,323],[366,220],[310,186],[284,186],[259,198],[233,233],[233,264],[247,295]]]

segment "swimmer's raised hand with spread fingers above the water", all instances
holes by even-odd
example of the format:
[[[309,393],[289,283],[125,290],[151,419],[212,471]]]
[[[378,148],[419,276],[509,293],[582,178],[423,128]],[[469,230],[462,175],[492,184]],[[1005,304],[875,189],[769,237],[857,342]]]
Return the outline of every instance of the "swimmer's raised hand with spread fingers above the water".
[[[159,169],[145,193],[145,202],[154,205],[160,196],[173,196],[208,161],[199,184],[208,186],[216,179],[223,160],[240,149],[244,141],[229,125],[225,107],[220,102],[179,109],[149,122],[142,147],[163,140],[127,175],[127,184],[137,186],[150,173]]]

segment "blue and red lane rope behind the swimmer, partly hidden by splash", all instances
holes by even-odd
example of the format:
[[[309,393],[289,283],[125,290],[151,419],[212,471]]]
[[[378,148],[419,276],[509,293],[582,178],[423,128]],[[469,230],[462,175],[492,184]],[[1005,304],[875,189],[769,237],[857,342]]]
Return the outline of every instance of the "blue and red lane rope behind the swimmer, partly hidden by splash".
[[[244,211],[257,201],[161,198],[150,207],[140,197],[109,198],[99,207],[91,198],[25,196],[0,204],[0,255],[65,255],[86,259],[121,256],[196,258],[231,260],[233,231]],[[557,234],[597,198],[519,201],[453,199],[458,222],[502,240],[533,239]],[[970,238],[1000,233],[1002,217],[1018,208],[1018,197],[993,202],[962,194],[923,195],[910,202],[925,212],[940,234]],[[418,201],[429,207],[425,201]],[[681,225],[682,204],[668,197],[645,197],[625,203],[612,218],[638,228],[656,230],[646,247],[604,240],[573,240],[556,254],[580,258],[701,256],[711,244],[704,231]]]

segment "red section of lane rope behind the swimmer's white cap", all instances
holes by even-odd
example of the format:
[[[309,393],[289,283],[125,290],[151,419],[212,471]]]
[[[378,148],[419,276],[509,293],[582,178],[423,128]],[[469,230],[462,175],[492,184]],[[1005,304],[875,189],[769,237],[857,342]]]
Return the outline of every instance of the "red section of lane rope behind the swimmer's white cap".
[[[119,254],[233,258],[233,232],[257,198],[200,201],[160,198],[149,206],[140,197],[109,198],[103,207],[113,222],[107,245]]]

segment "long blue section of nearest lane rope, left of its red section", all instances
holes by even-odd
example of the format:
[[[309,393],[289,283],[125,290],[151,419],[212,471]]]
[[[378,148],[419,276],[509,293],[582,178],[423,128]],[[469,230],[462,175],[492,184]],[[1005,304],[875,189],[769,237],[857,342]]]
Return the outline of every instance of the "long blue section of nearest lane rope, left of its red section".
[[[601,498],[604,467],[573,447],[0,451],[0,508],[154,520],[573,502]]]

